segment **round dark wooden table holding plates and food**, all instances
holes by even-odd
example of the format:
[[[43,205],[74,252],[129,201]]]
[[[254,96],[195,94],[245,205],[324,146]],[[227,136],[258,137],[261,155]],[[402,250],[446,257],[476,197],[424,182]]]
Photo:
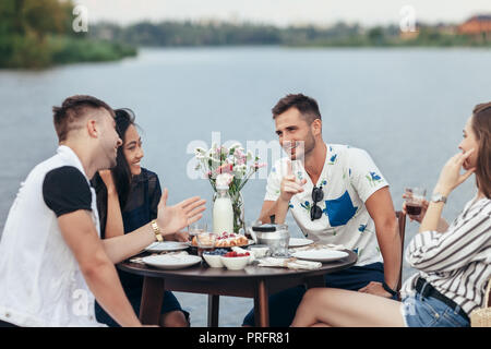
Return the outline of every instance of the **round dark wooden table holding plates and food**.
[[[288,269],[260,267],[255,263],[242,270],[212,268],[201,264],[183,269],[158,269],[141,263],[123,262],[117,265],[121,270],[144,277],[140,308],[142,324],[157,325],[164,300],[164,291],[180,291],[208,294],[208,326],[218,326],[219,296],[254,299],[255,324],[268,326],[268,296],[282,290],[306,285],[307,288],[324,287],[324,275],[346,269],[357,262],[357,254],[344,250],[348,256],[323,263],[320,269]]]

